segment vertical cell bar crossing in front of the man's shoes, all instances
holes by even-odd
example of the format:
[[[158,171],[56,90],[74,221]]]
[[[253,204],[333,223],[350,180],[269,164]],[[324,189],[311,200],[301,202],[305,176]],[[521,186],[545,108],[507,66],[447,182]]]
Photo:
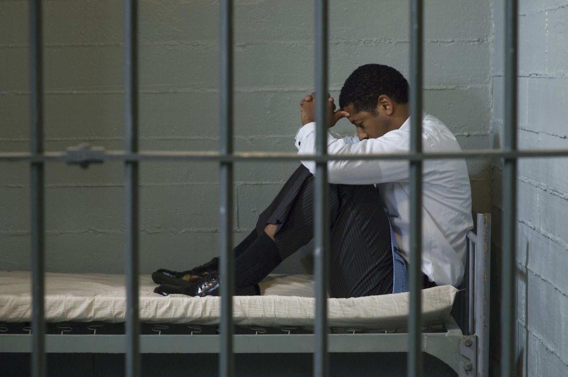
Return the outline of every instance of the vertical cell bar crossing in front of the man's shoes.
[[[233,153],[233,2],[221,2],[220,30],[220,152]],[[221,349],[219,355],[219,376],[235,374],[233,354],[233,293],[235,284],[233,261],[233,164],[221,162],[220,183],[220,275],[221,284]]]

